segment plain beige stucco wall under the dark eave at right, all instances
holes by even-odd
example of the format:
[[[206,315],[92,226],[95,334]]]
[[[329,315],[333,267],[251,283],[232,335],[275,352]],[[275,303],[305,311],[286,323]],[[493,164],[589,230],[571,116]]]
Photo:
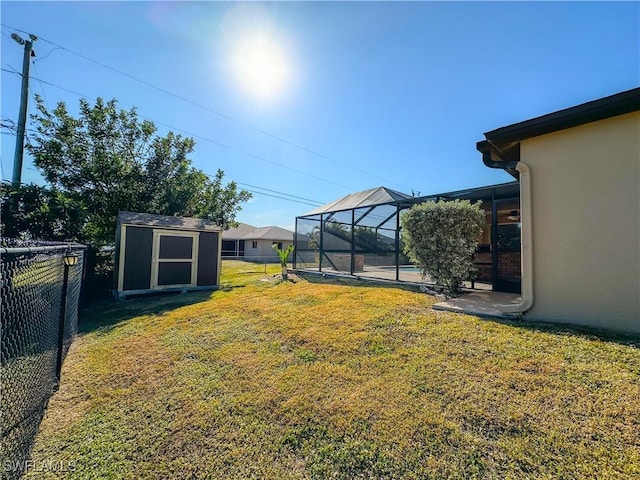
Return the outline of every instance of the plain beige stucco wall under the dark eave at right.
[[[523,140],[530,167],[527,319],[640,333],[640,112]]]

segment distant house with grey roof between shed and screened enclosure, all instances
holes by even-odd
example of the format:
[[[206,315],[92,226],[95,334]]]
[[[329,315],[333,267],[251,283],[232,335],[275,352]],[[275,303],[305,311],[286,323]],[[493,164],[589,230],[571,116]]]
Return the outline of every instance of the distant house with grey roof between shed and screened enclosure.
[[[258,262],[278,262],[273,244],[286,249],[293,243],[293,232],[280,227],[254,227],[240,223],[222,232],[222,256]],[[289,257],[291,258],[291,256]]]

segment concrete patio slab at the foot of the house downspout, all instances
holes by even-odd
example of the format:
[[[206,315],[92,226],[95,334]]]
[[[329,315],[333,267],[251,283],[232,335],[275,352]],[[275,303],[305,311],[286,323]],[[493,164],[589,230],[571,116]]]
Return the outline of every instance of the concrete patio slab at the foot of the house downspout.
[[[519,293],[471,292],[458,298],[450,298],[436,303],[432,308],[479,317],[515,319],[519,318],[518,314],[504,313],[502,307],[517,304],[521,300],[522,296]]]

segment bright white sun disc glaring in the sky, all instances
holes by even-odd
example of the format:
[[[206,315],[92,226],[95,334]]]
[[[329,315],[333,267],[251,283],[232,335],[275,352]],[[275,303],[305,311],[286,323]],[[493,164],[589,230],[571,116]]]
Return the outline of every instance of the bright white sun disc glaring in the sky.
[[[246,91],[269,99],[281,93],[289,83],[291,70],[283,48],[265,37],[247,38],[233,55],[234,74]]]

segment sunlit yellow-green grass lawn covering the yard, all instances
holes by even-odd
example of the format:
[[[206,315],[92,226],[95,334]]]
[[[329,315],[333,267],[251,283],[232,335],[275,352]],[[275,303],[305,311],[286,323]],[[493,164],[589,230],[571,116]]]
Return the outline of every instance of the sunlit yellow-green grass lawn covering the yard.
[[[89,311],[36,464],[79,479],[640,477],[639,339],[278,270],[224,262],[213,294]]]

